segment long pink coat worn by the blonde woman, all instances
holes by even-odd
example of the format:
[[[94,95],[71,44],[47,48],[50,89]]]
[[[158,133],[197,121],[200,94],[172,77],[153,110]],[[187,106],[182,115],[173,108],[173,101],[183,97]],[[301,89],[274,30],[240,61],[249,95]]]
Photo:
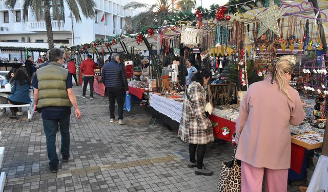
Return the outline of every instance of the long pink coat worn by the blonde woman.
[[[287,169],[291,165],[290,124],[300,124],[305,112],[296,90],[288,87],[290,100],[270,80],[253,83],[241,102],[236,158],[254,167]]]

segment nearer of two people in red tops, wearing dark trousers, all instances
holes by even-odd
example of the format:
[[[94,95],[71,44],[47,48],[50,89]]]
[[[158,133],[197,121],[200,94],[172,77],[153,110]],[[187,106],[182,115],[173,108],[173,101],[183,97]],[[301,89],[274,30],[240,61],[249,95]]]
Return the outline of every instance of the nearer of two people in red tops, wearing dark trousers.
[[[97,69],[96,63],[92,60],[92,55],[88,55],[88,58],[82,61],[80,70],[83,73],[83,92],[82,97],[86,98],[86,91],[88,82],[90,85],[90,99],[93,99],[93,81],[94,81],[94,70]]]

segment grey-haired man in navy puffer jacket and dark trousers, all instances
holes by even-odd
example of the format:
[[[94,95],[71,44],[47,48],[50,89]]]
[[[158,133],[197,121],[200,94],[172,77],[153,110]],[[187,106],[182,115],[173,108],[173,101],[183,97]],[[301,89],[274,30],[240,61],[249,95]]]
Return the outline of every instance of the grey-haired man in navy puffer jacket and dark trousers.
[[[123,104],[125,94],[129,94],[127,75],[119,64],[119,54],[113,53],[111,61],[106,63],[101,72],[101,81],[105,84],[109,99],[110,122],[115,120],[115,99],[118,105],[118,124],[123,123]]]

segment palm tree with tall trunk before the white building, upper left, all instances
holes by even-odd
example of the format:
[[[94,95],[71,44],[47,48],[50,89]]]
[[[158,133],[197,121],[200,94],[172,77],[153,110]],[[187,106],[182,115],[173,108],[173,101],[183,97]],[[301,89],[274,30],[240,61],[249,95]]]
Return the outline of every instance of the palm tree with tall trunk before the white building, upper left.
[[[6,0],[5,4],[9,9],[14,9],[17,1],[19,0]],[[93,0],[65,0],[65,2],[75,17],[76,22],[81,21],[80,11],[85,17],[94,18],[95,3]],[[32,11],[32,14],[35,15],[36,20],[45,20],[49,49],[54,48],[50,14],[51,7],[54,20],[59,21],[64,18],[64,0],[24,0],[23,4],[23,21],[25,21],[26,16],[28,15],[29,8]]]

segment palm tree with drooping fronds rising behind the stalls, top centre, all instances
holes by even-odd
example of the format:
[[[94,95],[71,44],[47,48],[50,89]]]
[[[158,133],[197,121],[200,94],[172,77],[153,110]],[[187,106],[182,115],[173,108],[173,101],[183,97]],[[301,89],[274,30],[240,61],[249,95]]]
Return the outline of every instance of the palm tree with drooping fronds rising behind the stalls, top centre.
[[[180,2],[185,3],[180,3]],[[194,2],[194,4],[190,3]],[[167,16],[175,14],[180,8],[185,8],[185,5],[196,5],[194,0],[156,0],[153,5],[139,3],[136,1],[130,2],[124,6],[124,9],[146,8],[147,11],[140,12],[132,18],[132,28],[134,32],[139,32],[141,27],[162,25]],[[180,5],[180,6],[179,6]],[[176,8],[178,7],[178,9]],[[190,7],[191,9],[192,7]],[[182,10],[182,9],[180,9]],[[128,26],[127,26],[128,27]]]

